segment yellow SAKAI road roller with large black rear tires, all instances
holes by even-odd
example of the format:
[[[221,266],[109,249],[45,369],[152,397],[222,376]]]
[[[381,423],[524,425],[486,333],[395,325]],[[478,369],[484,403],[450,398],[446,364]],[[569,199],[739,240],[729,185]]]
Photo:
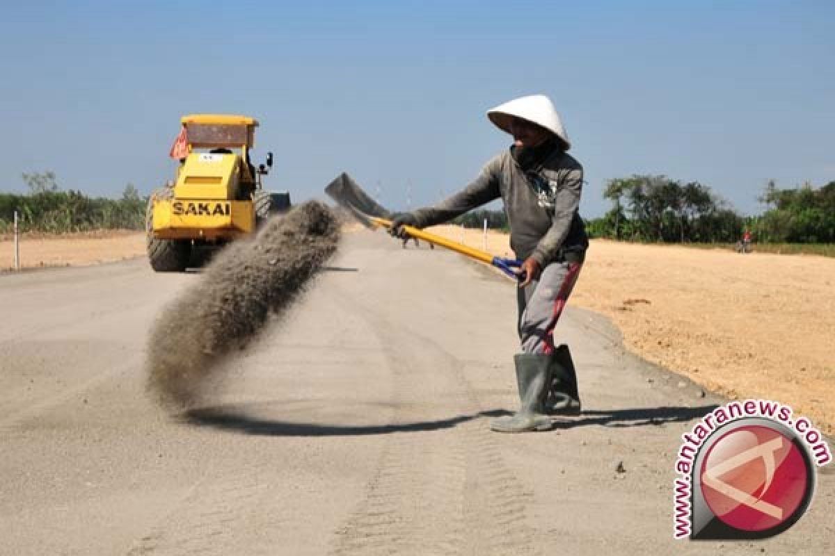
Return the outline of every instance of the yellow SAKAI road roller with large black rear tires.
[[[258,168],[250,161],[255,118],[192,114],[180,123],[170,151],[180,161],[176,179],[151,194],[145,218],[148,259],[158,272],[182,272],[196,253],[255,233],[290,208],[289,193],[262,187],[272,153]]]

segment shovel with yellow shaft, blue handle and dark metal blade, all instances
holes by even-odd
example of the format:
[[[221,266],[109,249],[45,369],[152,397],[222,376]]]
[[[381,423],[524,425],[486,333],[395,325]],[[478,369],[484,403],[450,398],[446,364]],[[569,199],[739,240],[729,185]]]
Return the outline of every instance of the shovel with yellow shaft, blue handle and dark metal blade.
[[[357,218],[364,226],[371,229],[392,228],[392,213],[383,208],[368,194],[362,191],[357,182],[347,173],[341,173],[325,188],[325,193],[346,208],[354,218]],[[423,239],[433,245],[448,248],[456,253],[473,258],[482,263],[487,263],[498,268],[514,280],[522,279],[524,276],[514,271],[514,268],[522,266],[522,261],[512,258],[494,257],[492,254],[481,249],[467,247],[463,243],[454,242],[451,239],[442,238],[434,233],[424,232],[422,229],[412,226],[403,226],[403,230],[412,238]]]

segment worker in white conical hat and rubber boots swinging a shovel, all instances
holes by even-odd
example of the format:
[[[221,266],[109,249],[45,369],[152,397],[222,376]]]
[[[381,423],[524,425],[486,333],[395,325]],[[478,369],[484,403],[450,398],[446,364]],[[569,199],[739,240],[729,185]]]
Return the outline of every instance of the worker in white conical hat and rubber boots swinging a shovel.
[[[431,208],[398,214],[392,235],[406,238],[403,226],[444,223],[502,198],[510,247],[523,261],[517,288],[522,353],[514,356],[520,408],[494,419],[490,428],[504,433],[548,430],[553,426],[549,415],[580,411],[574,365],[567,346],[555,345],[554,327],[589,246],[579,217],[583,168],[567,153],[569,137],[548,97],[517,98],[487,116],[513,136],[511,147],[459,193]]]

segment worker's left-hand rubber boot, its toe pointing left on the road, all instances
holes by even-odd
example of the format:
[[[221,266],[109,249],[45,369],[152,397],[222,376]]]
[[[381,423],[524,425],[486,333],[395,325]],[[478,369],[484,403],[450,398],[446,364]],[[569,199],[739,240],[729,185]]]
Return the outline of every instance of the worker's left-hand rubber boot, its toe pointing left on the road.
[[[545,398],[551,384],[551,357],[534,353],[514,355],[519,386],[519,412],[493,419],[490,428],[498,433],[549,430],[551,419],[544,414]]]

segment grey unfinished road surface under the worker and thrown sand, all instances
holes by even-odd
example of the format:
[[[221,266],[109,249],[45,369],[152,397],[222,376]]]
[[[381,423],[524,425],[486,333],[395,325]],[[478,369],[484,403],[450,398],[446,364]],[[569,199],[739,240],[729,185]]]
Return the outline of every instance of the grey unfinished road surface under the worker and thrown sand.
[[[831,474],[777,538],[674,541],[681,434],[723,402],[594,314],[558,328],[584,415],[491,433],[516,406],[512,284],[382,234],[347,234],[214,400],[172,418],[144,390],[147,336],[199,279],[144,260],[0,276],[0,553],[835,551]]]

